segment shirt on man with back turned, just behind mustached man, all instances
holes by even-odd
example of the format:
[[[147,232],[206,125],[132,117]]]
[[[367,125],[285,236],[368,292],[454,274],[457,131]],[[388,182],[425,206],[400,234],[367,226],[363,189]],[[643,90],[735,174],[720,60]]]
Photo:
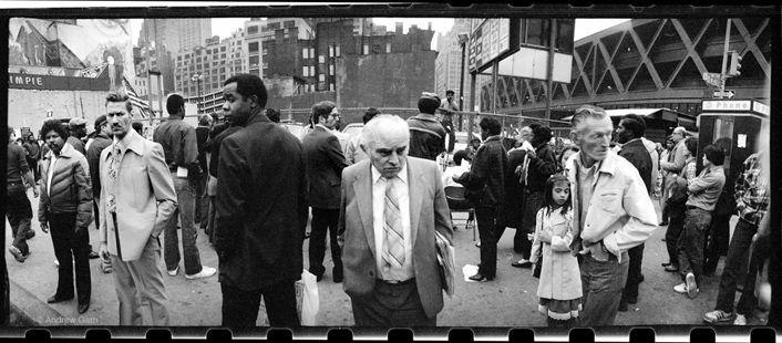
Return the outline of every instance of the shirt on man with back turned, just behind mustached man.
[[[196,142],[195,127],[177,116],[168,116],[163,124],[157,126],[152,138],[163,146],[169,169],[175,170],[176,167],[183,167],[188,168],[192,173],[197,172],[198,143]]]

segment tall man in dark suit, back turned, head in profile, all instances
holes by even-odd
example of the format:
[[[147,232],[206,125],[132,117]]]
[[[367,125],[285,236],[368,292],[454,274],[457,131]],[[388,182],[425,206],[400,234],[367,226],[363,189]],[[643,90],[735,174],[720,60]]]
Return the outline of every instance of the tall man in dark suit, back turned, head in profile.
[[[224,83],[224,112],[243,129],[220,144],[215,249],[223,326],[255,326],[264,297],[270,326],[298,326],[307,178],[298,138],[264,115],[264,82],[238,74]]]

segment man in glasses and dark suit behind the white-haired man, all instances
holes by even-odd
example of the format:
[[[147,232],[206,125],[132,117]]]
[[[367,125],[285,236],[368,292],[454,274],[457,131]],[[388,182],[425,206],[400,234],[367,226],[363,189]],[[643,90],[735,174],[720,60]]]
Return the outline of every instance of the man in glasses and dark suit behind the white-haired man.
[[[309,240],[309,271],[320,281],[323,278],[323,256],[326,254],[326,231],[329,231],[331,260],[335,263],[331,277],[342,282],[341,251],[337,243],[339,220],[340,179],[342,169],[348,166],[342,147],[332,134],[339,111],[330,101],[312,106],[315,129],[302,139],[307,159],[309,181],[309,204],[312,207],[312,233]]]

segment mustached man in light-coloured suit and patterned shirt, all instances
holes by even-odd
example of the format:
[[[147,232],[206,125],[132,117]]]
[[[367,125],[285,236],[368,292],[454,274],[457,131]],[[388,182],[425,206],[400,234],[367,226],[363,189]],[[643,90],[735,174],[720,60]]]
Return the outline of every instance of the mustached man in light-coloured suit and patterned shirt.
[[[163,147],[132,129],[131,110],[127,95],[106,96],[114,142],[100,157],[100,253],[111,256],[120,325],[168,325],[158,236],[176,208],[176,191]],[[143,322],[142,303],[150,304],[151,323]]]

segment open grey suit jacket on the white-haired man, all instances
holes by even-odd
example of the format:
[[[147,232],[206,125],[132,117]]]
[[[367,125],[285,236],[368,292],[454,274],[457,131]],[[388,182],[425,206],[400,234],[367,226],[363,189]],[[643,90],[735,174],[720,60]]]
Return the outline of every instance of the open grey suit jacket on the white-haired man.
[[[351,298],[370,295],[378,278],[375,256],[380,251],[374,251],[370,166],[370,160],[362,160],[342,173],[338,241],[342,248],[343,288]],[[443,309],[435,230],[453,246],[453,229],[441,174],[436,163],[408,157],[415,283],[423,309],[430,318]]]

